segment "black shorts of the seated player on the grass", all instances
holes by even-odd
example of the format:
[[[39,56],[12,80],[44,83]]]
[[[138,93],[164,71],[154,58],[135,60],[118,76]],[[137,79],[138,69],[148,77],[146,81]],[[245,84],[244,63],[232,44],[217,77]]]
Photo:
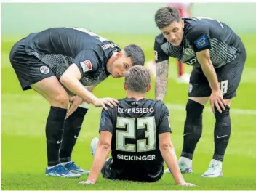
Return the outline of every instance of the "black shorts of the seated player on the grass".
[[[122,169],[114,169],[111,168],[113,164],[113,158],[109,158],[107,161],[105,161],[105,165],[103,166],[103,169],[101,170],[101,173],[103,174],[103,177],[105,179],[118,179],[118,180],[129,180],[129,181],[137,181],[137,182],[156,182],[161,179],[161,176],[164,174],[164,166],[161,166],[159,168],[159,171],[157,171],[154,174],[141,174],[137,173],[137,171],[129,171],[124,168]]]

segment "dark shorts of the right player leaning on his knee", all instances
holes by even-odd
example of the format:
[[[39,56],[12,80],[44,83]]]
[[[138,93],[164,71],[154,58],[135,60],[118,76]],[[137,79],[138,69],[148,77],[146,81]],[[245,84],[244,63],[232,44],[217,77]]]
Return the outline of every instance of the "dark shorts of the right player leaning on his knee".
[[[231,99],[236,96],[236,89],[241,81],[246,60],[245,49],[236,60],[215,68],[223,99]],[[209,97],[212,90],[201,68],[193,68],[188,86],[188,97]]]

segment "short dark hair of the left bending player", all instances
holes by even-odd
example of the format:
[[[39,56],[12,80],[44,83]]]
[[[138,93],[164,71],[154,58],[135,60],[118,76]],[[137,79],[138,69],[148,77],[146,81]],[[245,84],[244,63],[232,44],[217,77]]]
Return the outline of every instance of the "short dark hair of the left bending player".
[[[131,57],[132,65],[144,65],[145,55],[140,46],[129,44],[124,47],[124,52],[127,57]]]

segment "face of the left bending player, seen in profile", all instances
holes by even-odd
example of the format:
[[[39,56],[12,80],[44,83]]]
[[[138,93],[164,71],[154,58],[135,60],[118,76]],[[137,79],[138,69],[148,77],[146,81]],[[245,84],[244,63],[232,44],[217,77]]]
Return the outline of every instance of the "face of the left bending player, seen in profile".
[[[113,68],[111,75],[113,78],[121,78],[127,73],[129,68],[132,67],[132,60],[130,57],[126,57],[124,54],[118,54],[118,59],[113,62]]]

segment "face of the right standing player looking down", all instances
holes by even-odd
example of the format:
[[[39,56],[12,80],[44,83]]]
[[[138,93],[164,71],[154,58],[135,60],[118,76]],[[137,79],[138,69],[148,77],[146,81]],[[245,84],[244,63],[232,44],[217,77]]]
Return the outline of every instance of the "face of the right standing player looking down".
[[[161,28],[161,33],[163,33],[164,38],[169,41],[172,46],[180,46],[181,41],[183,41],[183,28],[184,21],[175,21],[168,26]]]

